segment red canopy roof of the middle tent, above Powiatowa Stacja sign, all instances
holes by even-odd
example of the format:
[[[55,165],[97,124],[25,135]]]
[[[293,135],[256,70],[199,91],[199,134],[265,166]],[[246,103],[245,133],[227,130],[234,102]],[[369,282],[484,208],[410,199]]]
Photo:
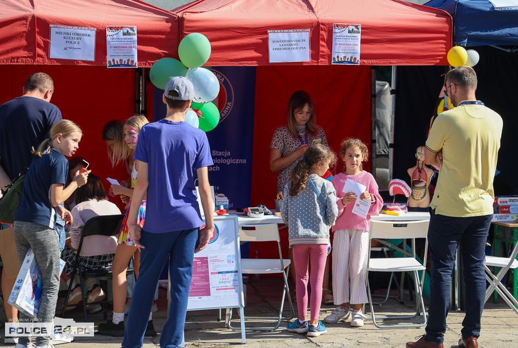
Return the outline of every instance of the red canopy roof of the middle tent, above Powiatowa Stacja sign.
[[[447,12],[401,0],[198,0],[174,10],[180,37],[203,33],[209,66],[269,65],[268,30],[309,29],[311,61],[329,65],[333,23],[362,24],[362,64],[448,65]]]

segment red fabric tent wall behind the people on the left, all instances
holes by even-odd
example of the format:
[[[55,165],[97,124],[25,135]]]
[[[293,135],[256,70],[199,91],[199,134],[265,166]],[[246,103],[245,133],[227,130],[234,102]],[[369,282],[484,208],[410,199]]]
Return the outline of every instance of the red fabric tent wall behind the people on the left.
[[[21,96],[27,77],[37,72],[52,77],[55,87],[52,104],[60,108],[63,118],[76,122],[83,131],[76,156],[90,162],[92,174],[99,176],[107,189],[106,177],[119,181],[127,179],[129,175],[123,164],[111,167],[102,129],[109,120],[124,122],[135,114],[134,70],[97,66],[0,65],[0,75],[4,80],[0,85],[0,104]],[[152,105],[151,100],[148,105]],[[149,115],[152,115],[152,110]],[[118,197],[109,199],[121,209],[124,207]]]

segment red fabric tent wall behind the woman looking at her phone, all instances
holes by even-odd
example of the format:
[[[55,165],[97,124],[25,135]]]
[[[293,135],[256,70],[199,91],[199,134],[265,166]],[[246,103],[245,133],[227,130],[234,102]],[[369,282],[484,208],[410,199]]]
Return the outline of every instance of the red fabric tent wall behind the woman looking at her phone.
[[[269,168],[270,142],[275,129],[286,123],[287,103],[296,90],[311,96],[316,121],[337,155],[349,136],[370,147],[369,66],[260,66],[255,90],[252,206],[275,207],[277,173]],[[339,160],[333,174],[342,168]],[[370,170],[368,162],[365,169]]]

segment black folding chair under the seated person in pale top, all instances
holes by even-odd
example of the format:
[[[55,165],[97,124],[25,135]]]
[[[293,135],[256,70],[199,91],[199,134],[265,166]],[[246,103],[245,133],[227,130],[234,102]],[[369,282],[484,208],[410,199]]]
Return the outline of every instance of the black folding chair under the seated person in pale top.
[[[83,245],[83,239],[84,237],[87,237],[89,235],[106,235],[106,236],[112,236],[117,235],[121,229],[122,220],[124,219],[123,214],[117,214],[117,215],[100,215],[95,216],[88,220],[84,226],[83,231],[81,233],[81,240],[79,241],[79,247],[77,249],[76,259],[74,262],[74,271],[71,274],[71,278],[74,279],[76,274],[79,275],[79,281],[81,284],[81,296],[82,296],[82,302],[83,302],[83,311],[84,311],[84,320],[86,323],[88,323],[88,314],[87,314],[87,294],[84,292],[84,285],[83,285],[83,276],[88,278],[100,278],[100,286],[104,290],[108,290],[108,280],[112,279],[112,270],[111,267],[109,269],[100,269],[100,270],[89,270],[89,271],[81,271],[81,268],[79,267],[79,255],[81,254],[81,247]],[[128,274],[134,274],[133,268],[128,267],[126,271],[126,275]],[[68,286],[68,291],[65,296],[65,303],[63,304],[63,309],[61,311],[61,316],[65,316],[65,310],[67,308],[67,302],[68,302],[68,296],[70,295],[70,292],[72,290],[72,284],[73,282],[70,282],[70,285]],[[106,303],[112,303],[113,300],[104,300],[104,301],[97,301],[92,302],[90,304],[102,304],[103,306],[103,320],[106,320],[108,318],[108,306]],[[76,305],[76,304],[71,304]]]

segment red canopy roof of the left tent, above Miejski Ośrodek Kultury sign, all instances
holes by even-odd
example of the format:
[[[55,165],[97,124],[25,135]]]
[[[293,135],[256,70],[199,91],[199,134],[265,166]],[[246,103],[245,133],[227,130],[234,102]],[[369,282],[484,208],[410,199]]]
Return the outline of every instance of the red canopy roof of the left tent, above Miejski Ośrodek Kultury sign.
[[[140,67],[177,52],[178,17],[138,0],[3,0],[0,64],[106,66],[106,25],[136,25]],[[49,25],[96,29],[95,61],[49,58]]]

